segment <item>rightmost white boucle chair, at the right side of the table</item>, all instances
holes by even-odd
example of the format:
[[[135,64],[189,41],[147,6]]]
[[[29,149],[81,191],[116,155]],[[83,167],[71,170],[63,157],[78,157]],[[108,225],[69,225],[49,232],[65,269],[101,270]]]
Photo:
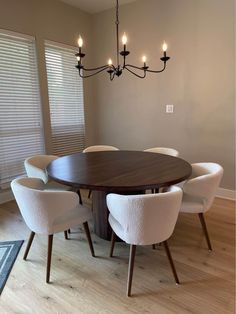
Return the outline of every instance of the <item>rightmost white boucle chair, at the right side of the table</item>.
[[[212,251],[204,213],[213,203],[217,188],[223,176],[223,168],[216,163],[192,164],[192,175],[183,185],[183,201],[180,212],[198,214],[206,237],[209,251]]]

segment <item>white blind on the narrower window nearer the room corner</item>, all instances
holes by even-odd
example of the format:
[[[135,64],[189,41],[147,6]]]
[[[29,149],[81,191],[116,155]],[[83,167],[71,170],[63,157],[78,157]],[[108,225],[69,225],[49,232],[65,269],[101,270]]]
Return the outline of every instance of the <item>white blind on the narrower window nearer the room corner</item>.
[[[75,49],[45,43],[53,153],[84,149],[83,81],[75,68]]]

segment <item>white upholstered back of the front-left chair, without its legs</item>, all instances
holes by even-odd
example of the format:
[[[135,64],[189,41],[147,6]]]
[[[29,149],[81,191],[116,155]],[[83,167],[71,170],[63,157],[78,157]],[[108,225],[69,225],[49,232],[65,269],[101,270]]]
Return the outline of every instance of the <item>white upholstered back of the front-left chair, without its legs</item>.
[[[63,229],[66,221],[60,217],[66,212],[69,215],[69,211],[79,205],[76,193],[43,190],[44,182],[37,178],[15,179],[11,182],[11,188],[25,223],[35,233],[53,234],[66,230]]]

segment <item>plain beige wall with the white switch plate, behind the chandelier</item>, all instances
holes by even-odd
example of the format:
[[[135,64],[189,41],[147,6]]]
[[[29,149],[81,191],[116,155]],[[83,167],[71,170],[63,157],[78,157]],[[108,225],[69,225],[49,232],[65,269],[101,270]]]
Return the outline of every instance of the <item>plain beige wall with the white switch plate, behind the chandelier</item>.
[[[96,143],[123,149],[174,147],[190,162],[225,169],[221,186],[234,189],[235,33],[233,0],[138,0],[121,7],[121,34],[130,63],[145,53],[161,67],[161,44],[172,57],[163,74],[129,73],[96,79]],[[115,60],[114,10],[93,17],[94,63]],[[174,104],[174,114],[165,105]]]

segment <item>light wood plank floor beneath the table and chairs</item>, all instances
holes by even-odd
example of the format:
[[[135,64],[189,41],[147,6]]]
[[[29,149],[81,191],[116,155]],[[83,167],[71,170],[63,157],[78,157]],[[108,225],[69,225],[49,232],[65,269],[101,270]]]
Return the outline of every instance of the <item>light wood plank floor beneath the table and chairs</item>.
[[[87,193],[85,194],[87,195]],[[0,297],[0,313],[234,313],[234,202],[216,199],[206,215],[208,252],[198,216],[181,214],[169,240],[181,281],[176,286],[164,248],[138,247],[131,298],[126,297],[129,247],[92,234],[91,257],[82,228],[54,240],[51,284],[45,283],[47,239],[36,236],[28,261],[23,245]],[[0,239],[27,239],[15,202],[0,205]]]

